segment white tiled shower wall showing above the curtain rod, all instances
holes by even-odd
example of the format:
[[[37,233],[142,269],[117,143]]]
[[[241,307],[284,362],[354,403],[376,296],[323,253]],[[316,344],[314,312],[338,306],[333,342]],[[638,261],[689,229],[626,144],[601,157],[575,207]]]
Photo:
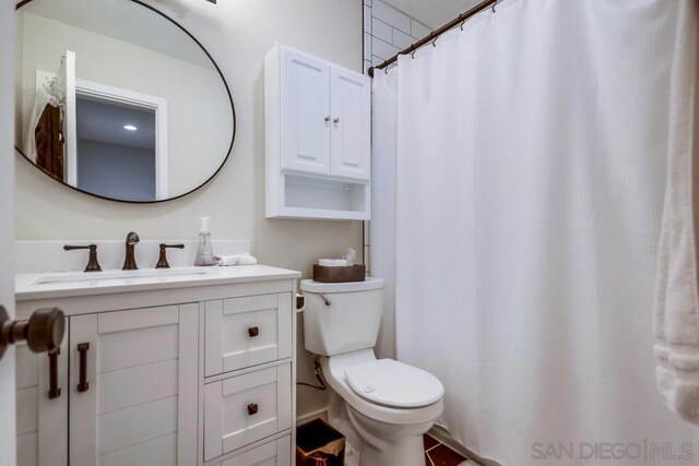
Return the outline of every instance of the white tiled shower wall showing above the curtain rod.
[[[364,72],[430,33],[419,21],[381,0],[364,0]],[[364,223],[364,264],[370,273],[369,222]]]

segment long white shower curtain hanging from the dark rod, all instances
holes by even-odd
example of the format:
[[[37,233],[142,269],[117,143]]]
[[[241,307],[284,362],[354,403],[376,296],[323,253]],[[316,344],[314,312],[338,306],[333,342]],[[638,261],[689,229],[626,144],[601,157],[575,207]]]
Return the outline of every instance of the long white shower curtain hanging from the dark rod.
[[[651,330],[687,15],[694,0],[503,0],[377,72],[371,272],[394,278],[398,359],[443,382],[440,422],[484,457],[699,464]]]

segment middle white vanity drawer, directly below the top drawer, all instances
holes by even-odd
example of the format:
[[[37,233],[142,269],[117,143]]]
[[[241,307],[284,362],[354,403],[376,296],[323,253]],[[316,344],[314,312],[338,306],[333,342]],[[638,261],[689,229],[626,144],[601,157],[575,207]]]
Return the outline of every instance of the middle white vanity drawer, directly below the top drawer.
[[[204,461],[291,427],[291,363],[204,385]]]

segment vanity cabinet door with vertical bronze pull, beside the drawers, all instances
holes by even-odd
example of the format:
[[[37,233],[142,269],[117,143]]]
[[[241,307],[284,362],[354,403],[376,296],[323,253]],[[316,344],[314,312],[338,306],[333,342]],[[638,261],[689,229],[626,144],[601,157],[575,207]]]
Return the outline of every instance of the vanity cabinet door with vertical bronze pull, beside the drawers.
[[[71,318],[71,465],[197,464],[198,311]]]

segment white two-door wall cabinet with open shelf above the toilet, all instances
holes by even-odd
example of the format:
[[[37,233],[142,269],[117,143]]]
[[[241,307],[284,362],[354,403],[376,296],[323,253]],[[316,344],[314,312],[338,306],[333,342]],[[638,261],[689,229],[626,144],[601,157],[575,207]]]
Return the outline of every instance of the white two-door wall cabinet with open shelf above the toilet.
[[[368,219],[368,76],[276,46],[265,57],[266,216]]]

